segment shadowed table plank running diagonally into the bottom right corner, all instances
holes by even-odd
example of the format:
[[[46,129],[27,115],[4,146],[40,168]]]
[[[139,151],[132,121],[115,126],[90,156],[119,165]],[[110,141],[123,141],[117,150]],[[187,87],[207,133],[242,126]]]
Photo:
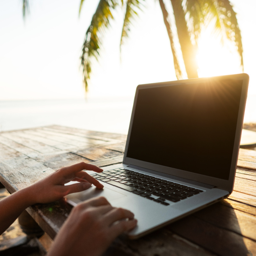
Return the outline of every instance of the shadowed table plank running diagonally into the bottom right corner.
[[[224,228],[216,227],[193,215],[169,225],[168,229],[221,256],[256,255],[255,241]]]

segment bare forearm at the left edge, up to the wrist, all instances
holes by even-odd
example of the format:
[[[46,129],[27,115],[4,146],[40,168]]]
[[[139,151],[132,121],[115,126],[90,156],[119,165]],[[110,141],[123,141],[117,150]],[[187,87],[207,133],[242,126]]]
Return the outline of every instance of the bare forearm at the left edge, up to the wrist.
[[[34,204],[30,188],[21,189],[0,201],[0,234],[20,216],[28,206]]]

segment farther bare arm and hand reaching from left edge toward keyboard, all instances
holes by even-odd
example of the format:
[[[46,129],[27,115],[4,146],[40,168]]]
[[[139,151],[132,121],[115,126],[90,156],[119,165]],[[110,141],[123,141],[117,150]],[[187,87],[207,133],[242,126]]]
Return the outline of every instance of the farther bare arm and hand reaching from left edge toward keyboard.
[[[102,172],[97,166],[86,163],[74,164],[60,168],[33,185],[23,188],[0,201],[0,234],[16,220],[21,212],[36,203],[50,203],[70,193],[83,191],[94,184],[97,188],[103,185],[83,170]],[[79,183],[64,186],[69,181]]]

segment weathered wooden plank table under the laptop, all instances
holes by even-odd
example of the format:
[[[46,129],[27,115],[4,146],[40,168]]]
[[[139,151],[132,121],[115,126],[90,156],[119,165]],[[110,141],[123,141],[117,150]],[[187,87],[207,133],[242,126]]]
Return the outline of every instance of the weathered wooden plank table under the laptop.
[[[126,135],[46,126],[0,133],[0,181],[11,192],[81,161],[122,162]],[[53,239],[71,206],[64,200],[27,211]],[[138,240],[116,239],[106,255],[256,255],[256,151],[240,149],[227,199]]]

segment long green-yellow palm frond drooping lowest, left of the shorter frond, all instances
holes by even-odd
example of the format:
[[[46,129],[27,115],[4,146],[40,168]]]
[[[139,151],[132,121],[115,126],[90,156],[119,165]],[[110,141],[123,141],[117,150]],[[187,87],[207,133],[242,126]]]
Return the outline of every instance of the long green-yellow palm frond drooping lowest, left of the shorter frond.
[[[104,36],[105,29],[109,26],[110,19],[114,19],[112,12],[118,4],[118,0],[100,0],[91,24],[86,31],[81,55],[86,92],[88,91],[88,80],[92,71],[91,60],[92,58],[98,60],[101,38]]]

